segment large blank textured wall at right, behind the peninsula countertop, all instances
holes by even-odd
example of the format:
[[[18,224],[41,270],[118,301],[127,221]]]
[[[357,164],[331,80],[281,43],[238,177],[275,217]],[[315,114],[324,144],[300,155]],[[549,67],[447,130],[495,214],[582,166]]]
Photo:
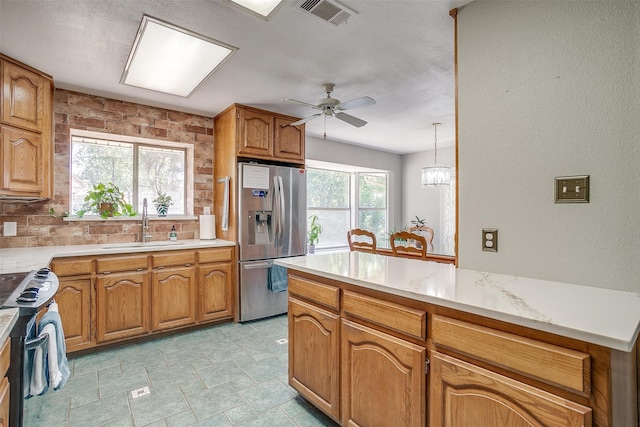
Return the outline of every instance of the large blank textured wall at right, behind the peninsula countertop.
[[[637,1],[459,10],[461,268],[640,291],[639,16]],[[554,204],[554,177],[583,174],[591,202]]]

